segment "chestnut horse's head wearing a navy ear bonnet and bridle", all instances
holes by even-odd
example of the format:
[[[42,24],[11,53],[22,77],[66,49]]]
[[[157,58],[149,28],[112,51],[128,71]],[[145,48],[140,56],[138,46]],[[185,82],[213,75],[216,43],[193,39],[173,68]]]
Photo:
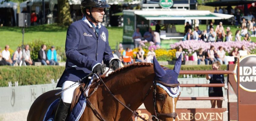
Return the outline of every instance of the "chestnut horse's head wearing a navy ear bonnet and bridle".
[[[152,115],[156,115],[159,120],[173,121],[177,116],[175,109],[176,102],[180,95],[178,76],[181,67],[181,55],[177,59],[173,70],[161,67],[155,57],[153,59],[153,63],[156,74],[153,90],[154,107],[153,110],[152,108],[149,108],[151,110],[147,110]],[[147,108],[149,103],[145,106]]]

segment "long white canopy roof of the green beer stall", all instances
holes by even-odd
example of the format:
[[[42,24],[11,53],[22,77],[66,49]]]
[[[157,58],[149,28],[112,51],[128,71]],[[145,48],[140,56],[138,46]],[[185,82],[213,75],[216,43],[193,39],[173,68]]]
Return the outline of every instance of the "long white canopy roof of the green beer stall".
[[[178,10],[178,9],[159,9],[159,10],[127,10],[133,11],[134,14],[140,15],[147,20],[186,20],[186,19],[199,19],[199,20],[211,20],[211,19],[228,19],[233,15],[212,13],[210,11],[200,10]]]

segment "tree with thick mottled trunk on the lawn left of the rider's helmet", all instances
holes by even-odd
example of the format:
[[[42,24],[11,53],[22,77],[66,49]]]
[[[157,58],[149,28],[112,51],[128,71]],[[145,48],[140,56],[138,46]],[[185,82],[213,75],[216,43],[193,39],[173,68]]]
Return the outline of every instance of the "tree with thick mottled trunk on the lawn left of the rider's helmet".
[[[26,0],[3,0],[1,4],[4,2],[24,2]],[[71,14],[70,14],[70,6],[68,4],[68,0],[58,0],[58,21],[59,25],[68,26],[72,23]]]

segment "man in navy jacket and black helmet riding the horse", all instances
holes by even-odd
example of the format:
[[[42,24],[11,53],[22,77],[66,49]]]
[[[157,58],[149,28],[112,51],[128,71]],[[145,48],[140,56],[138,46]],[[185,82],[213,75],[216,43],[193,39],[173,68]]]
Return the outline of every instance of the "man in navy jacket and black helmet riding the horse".
[[[100,24],[105,14],[104,8],[109,7],[106,0],[82,0],[83,18],[72,23],[67,29],[66,68],[57,87],[62,87],[63,90],[91,72],[103,74],[102,63],[113,70],[119,68],[121,62],[113,57],[108,42],[108,30]],[[65,121],[73,92],[79,84],[75,83],[61,93],[55,121]]]

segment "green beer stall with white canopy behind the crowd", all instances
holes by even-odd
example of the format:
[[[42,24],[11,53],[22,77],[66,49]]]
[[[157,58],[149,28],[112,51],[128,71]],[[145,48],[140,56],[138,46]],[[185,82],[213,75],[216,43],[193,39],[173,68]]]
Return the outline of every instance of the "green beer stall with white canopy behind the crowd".
[[[187,9],[123,10],[123,44],[128,44],[133,48],[132,35],[136,27],[140,28],[140,33],[143,36],[143,34],[148,31],[148,28],[150,27],[150,20],[163,20],[165,23],[168,23],[169,20],[182,21],[182,24],[184,24],[186,19],[207,21],[212,19],[228,19],[231,17],[233,17],[233,15]],[[182,39],[183,34],[167,28],[166,31],[160,32],[160,38],[164,40]]]

